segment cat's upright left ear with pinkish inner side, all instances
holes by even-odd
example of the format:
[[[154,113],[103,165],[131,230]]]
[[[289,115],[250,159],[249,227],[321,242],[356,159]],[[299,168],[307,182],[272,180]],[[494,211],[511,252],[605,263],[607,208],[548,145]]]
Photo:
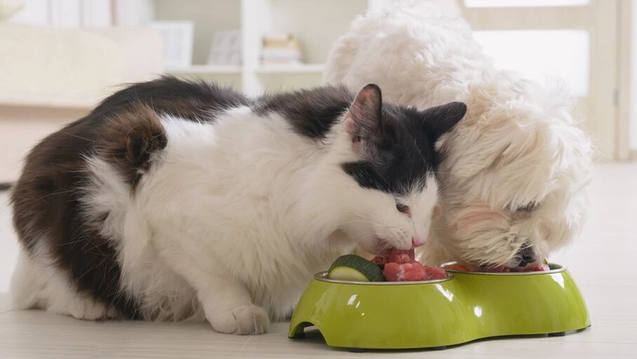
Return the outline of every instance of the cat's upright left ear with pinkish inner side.
[[[378,86],[370,83],[358,91],[343,118],[343,128],[352,142],[382,137],[382,96]]]

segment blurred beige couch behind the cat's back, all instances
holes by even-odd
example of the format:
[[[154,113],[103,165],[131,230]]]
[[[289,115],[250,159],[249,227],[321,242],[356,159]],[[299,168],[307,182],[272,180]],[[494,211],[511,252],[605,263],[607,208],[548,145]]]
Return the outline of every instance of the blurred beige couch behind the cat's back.
[[[18,177],[41,137],[121,83],[163,72],[152,29],[59,29],[0,22],[0,182]]]

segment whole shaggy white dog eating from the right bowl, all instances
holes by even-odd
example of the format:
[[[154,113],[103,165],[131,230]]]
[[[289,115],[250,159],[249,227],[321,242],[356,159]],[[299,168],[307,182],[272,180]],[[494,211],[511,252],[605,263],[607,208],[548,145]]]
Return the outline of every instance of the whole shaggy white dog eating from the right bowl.
[[[418,109],[467,104],[438,143],[441,212],[424,262],[523,266],[577,236],[591,149],[569,97],[496,69],[460,16],[431,4],[370,12],[337,40],[324,79],[377,83],[384,100]]]

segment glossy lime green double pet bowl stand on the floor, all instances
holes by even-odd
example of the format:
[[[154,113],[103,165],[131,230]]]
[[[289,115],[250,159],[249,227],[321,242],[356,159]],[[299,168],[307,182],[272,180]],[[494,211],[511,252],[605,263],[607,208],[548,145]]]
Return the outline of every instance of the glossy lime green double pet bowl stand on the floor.
[[[328,346],[440,348],[589,327],[584,298],[570,273],[558,264],[549,268],[531,273],[448,269],[443,280],[403,283],[345,282],[318,273],[295,309],[288,337],[304,337],[304,328],[314,325]]]

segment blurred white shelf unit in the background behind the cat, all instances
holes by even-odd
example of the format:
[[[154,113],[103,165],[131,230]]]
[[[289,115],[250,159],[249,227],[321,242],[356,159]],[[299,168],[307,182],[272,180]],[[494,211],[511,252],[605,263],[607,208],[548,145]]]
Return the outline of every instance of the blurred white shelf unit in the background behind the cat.
[[[357,15],[392,0],[154,0],[156,20],[194,21],[194,65],[168,69],[184,79],[217,81],[248,95],[318,86],[333,42]],[[241,31],[241,66],[203,65],[214,32]],[[300,65],[261,65],[267,32],[290,32],[302,43]]]

